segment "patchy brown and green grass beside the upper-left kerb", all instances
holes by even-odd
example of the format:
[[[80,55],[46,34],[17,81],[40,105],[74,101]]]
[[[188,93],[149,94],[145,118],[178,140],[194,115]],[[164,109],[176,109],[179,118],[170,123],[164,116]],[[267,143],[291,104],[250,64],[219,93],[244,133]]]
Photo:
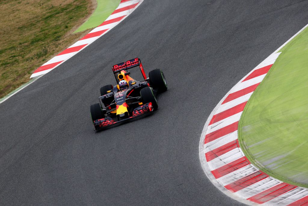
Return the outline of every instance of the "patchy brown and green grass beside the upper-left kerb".
[[[73,34],[95,0],[0,1],[0,98],[89,31]]]

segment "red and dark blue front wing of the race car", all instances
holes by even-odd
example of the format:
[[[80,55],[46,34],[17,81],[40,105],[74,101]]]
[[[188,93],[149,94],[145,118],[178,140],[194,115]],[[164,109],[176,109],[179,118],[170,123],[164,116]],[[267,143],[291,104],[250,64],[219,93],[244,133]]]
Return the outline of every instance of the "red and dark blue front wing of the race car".
[[[110,117],[106,117],[106,118],[103,118],[103,119],[95,120],[94,121],[94,128],[95,129],[103,129],[103,128],[109,127],[111,125],[114,125],[114,124],[117,124],[117,123],[120,123],[120,122],[124,122],[126,120],[130,120],[132,118],[144,115],[144,114],[152,112],[152,111],[153,111],[152,103],[151,102],[146,103],[146,104],[134,109],[132,116],[128,117],[126,119],[115,121]]]

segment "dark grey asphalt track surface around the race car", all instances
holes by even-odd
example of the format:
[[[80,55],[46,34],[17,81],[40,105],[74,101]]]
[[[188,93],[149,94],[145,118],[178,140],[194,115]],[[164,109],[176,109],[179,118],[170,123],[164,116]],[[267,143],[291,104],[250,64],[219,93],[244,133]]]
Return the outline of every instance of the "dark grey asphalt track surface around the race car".
[[[83,51],[0,104],[0,204],[238,205],[206,177],[210,112],[307,24],[308,1],[145,0]],[[159,110],[94,132],[89,106],[140,57],[164,70]]]

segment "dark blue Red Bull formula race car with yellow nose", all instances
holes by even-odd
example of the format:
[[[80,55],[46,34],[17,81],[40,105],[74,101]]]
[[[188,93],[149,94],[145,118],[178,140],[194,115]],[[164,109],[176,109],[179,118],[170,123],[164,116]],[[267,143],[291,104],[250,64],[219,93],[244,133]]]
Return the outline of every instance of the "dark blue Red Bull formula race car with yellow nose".
[[[128,69],[139,66],[143,80],[131,78]],[[95,130],[123,122],[158,108],[156,94],[167,90],[167,82],[161,69],[149,72],[147,78],[140,58],[112,67],[117,84],[100,88],[99,103],[90,107]]]

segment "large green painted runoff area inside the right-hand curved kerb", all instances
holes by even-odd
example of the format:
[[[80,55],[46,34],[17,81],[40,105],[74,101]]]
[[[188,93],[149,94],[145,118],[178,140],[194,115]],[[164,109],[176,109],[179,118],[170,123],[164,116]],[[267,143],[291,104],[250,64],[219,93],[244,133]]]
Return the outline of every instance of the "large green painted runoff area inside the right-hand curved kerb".
[[[308,187],[308,28],[280,52],[244,108],[239,141],[260,170]]]

